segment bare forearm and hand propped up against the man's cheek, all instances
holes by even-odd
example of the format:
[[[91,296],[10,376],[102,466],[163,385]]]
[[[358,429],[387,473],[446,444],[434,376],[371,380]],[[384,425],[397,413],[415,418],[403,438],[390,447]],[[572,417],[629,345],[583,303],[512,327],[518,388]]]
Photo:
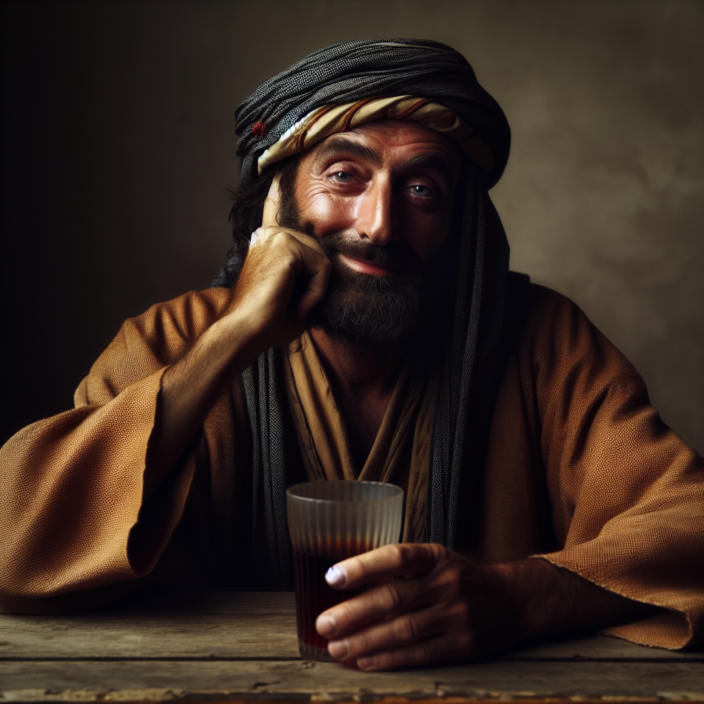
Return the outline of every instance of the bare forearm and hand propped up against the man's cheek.
[[[306,329],[313,306],[325,296],[332,270],[325,250],[314,237],[280,227],[278,210],[275,177],[256,244],[244,260],[227,312],[163,375],[147,492],[184,451],[232,377],[266,349],[296,339]],[[306,289],[298,301],[291,301],[296,277],[306,277]]]

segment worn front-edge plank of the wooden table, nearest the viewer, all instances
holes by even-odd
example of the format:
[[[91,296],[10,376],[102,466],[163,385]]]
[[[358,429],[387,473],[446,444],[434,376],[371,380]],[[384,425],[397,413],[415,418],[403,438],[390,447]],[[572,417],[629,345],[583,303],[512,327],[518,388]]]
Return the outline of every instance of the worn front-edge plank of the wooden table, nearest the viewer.
[[[363,673],[313,662],[3,662],[0,700],[645,698],[704,701],[687,662],[486,662]]]

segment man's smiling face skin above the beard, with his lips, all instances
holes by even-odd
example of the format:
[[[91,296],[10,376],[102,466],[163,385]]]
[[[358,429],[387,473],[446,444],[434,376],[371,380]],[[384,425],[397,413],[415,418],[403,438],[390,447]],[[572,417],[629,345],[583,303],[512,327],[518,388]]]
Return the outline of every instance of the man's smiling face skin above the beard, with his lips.
[[[368,122],[301,156],[298,217],[318,239],[344,233],[367,249],[410,250],[425,260],[450,232],[459,174],[459,149],[448,137],[410,120]],[[333,264],[377,276],[398,268],[345,254]]]

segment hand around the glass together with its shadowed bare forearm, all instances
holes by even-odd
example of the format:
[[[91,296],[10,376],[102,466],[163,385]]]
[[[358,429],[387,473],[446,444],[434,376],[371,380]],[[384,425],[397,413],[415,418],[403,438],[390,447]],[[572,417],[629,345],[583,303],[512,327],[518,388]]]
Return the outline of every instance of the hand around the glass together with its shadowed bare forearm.
[[[338,562],[327,581],[337,589],[377,582],[316,622],[330,655],[370,671],[466,662],[543,633],[599,629],[654,609],[547,560],[479,565],[436,543],[377,548]]]

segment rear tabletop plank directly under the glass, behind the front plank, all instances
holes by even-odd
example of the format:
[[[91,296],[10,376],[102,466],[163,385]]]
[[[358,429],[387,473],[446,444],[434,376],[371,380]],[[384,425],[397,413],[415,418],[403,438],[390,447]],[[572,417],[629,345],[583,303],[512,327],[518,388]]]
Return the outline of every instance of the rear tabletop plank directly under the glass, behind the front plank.
[[[0,615],[0,660],[7,658],[297,659],[294,595],[173,593],[88,614]],[[594,636],[531,648],[506,659],[704,662],[704,654]]]

